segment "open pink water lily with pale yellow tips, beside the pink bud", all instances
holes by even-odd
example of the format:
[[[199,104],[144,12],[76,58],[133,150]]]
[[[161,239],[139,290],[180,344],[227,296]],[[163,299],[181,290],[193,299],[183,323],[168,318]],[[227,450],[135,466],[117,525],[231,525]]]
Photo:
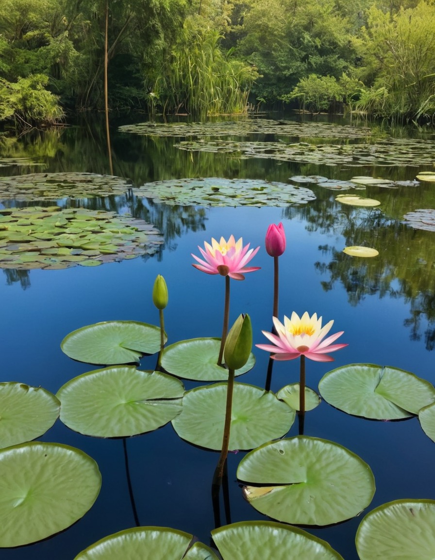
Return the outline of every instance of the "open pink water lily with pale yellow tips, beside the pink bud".
[[[204,260],[192,253],[193,258],[199,263],[193,264],[193,266],[207,274],[220,274],[234,280],[244,280],[245,273],[254,272],[260,268],[245,266],[257,254],[259,247],[249,249],[249,243],[243,246],[242,237],[237,242],[233,235],[228,241],[221,237],[219,243],[215,239],[211,239],[211,245],[205,241],[204,246],[205,250],[198,245]]]

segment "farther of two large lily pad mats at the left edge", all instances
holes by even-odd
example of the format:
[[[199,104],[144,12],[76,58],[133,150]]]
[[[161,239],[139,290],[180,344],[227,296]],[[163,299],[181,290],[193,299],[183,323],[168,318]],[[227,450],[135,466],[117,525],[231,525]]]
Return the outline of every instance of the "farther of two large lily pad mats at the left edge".
[[[0,160],[1,161],[1,160]],[[0,200],[56,200],[125,194],[131,181],[96,173],[30,173],[0,178]]]

